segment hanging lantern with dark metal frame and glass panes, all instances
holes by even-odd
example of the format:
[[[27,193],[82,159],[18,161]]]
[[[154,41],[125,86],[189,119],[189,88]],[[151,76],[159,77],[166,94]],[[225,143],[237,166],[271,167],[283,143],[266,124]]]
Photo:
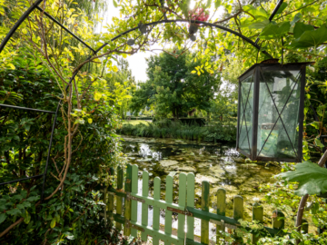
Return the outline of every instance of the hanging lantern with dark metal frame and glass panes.
[[[239,77],[237,151],[253,161],[302,162],[305,67],[254,64]]]

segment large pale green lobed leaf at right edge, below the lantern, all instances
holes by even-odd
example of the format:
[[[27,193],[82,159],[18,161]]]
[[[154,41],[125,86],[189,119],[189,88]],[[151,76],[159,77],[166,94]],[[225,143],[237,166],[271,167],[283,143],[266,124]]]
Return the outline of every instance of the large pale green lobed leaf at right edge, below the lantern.
[[[295,165],[295,171],[286,171],[277,174],[285,181],[299,182],[295,195],[319,195],[327,191],[327,169],[317,163],[302,162]]]

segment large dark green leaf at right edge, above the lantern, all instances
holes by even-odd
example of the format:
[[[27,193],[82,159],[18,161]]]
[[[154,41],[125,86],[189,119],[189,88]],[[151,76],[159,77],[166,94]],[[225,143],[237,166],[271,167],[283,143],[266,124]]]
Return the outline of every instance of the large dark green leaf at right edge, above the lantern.
[[[292,48],[316,47],[327,41],[327,28],[322,26],[314,31],[306,31],[299,38],[292,41]]]

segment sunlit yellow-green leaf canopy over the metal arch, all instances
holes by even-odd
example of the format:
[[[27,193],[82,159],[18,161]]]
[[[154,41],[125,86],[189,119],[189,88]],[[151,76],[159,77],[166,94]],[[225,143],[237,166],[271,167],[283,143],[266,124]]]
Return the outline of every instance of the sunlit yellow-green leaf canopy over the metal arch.
[[[27,0],[14,2],[2,2],[1,14],[7,17],[4,18],[2,36],[25,12],[26,7],[33,4]],[[95,4],[98,2],[100,1],[94,1]],[[126,57],[127,54],[152,51],[153,44],[161,45],[163,50],[172,45],[185,50],[193,49],[202,62],[194,71],[198,74],[203,73],[203,70],[222,70],[223,64],[229,63],[235,57],[243,63],[243,67],[267,58],[242,38],[210,26],[198,25],[199,30],[193,42],[190,39],[189,22],[194,19],[226,26],[249,37],[253,42],[260,38],[258,44],[261,51],[266,51],[274,58],[281,58],[282,49],[286,54],[302,54],[306,60],[320,59],[325,54],[327,8],[326,1],[322,0],[284,1],[272,21],[269,17],[277,1],[113,0],[120,17],[114,17],[111,25],[104,25],[104,32],[100,34],[94,32],[94,26],[99,25],[103,19],[96,15],[91,20],[87,12],[80,8],[81,3],[73,0],[50,0],[40,7],[45,8],[47,13],[81,37],[94,50],[107,44],[98,54],[92,54],[83,44],[74,43],[69,35],[63,34],[64,31],[59,26],[35,10],[18,29],[6,52],[1,54],[2,61],[8,61],[15,54],[13,46],[27,44],[42,54],[45,60],[49,59],[55,69],[60,71],[56,72],[58,82],[68,83],[72,71],[77,71],[76,69],[85,64],[84,59],[88,54],[92,55],[90,62],[105,64],[108,70],[114,71],[116,68],[113,58],[116,55]],[[191,9],[190,5],[194,7]],[[223,15],[215,19],[213,15],[217,11],[223,12]],[[176,22],[150,25],[145,34],[137,28],[140,23],[149,24],[166,19]],[[131,28],[135,28],[135,31],[123,34]],[[123,35],[111,41],[117,34]],[[129,39],[134,40],[133,45],[127,44]],[[40,44],[42,42],[49,45],[47,51],[43,50],[44,46]],[[13,67],[10,62],[2,65]]]

